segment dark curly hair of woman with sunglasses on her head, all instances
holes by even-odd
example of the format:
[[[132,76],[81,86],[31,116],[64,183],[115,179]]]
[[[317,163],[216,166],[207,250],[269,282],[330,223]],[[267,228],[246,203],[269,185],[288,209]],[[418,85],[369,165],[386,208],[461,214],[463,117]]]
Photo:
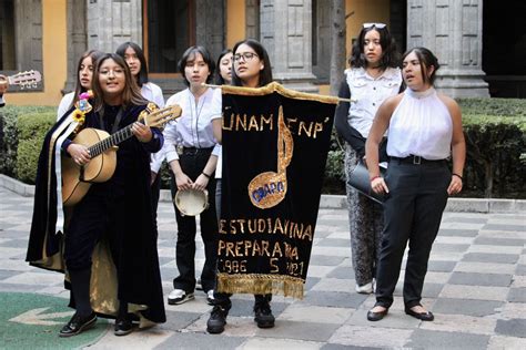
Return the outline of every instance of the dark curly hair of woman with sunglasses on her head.
[[[366,68],[367,60],[364,54],[365,45],[365,34],[370,31],[375,30],[380,33],[380,45],[382,47],[382,58],[380,59],[380,66],[385,70],[387,68],[399,66],[399,52],[396,48],[395,40],[391,35],[387,25],[383,28],[377,28],[376,25],[371,25],[367,28],[362,28],[358,34],[358,39],[353,44],[353,50],[351,58],[348,59],[348,64],[352,68]]]

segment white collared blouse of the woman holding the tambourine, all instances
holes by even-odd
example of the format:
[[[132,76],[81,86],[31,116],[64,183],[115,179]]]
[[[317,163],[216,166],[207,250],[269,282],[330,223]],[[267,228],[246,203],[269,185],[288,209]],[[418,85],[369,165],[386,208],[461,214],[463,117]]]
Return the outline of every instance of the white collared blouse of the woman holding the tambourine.
[[[179,104],[183,110],[181,116],[175,122],[169,123],[163,132],[166,162],[179,159],[176,145],[196,148],[215,147],[213,154],[218,155],[219,146],[212,131],[212,119],[221,116],[221,103],[216,101],[213,89],[208,89],[198,102],[190,89],[178,92],[166,101],[166,105]]]

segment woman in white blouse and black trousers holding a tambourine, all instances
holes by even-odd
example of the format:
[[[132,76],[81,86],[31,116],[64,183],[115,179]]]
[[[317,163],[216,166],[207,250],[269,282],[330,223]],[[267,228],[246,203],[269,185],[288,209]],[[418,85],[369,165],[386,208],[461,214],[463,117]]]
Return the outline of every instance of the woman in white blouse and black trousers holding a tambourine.
[[[215,179],[218,147],[212,132],[211,117],[221,114],[221,104],[214,103],[213,90],[203,85],[213,79],[215,63],[203,47],[191,47],[179,61],[179,71],[188,89],[174,94],[166,105],[179,104],[183,113],[176,123],[164,128],[166,162],[172,171],[172,195],[175,198],[178,243],[175,261],[179,276],[169,295],[170,305],[180,305],[194,298],[195,289],[195,217],[185,215],[178,206],[182,194],[208,192],[208,206],[200,214],[201,237],[205,261],[201,285],[209,303],[213,301],[215,262],[218,258],[218,218],[215,215]],[[188,214],[188,213],[186,213]]]

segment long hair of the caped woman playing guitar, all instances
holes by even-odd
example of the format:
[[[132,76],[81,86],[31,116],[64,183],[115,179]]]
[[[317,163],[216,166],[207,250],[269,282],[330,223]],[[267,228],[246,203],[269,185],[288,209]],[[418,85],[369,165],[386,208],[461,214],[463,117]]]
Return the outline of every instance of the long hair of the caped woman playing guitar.
[[[102,110],[102,106],[104,105],[104,97],[103,97],[104,93],[100,84],[99,73],[100,73],[100,68],[102,63],[104,63],[107,60],[115,61],[115,63],[119,64],[124,70],[125,84],[124,84],[124,90],[122,91],[122,105],[124,107],[128,107],[130,105],[146,104],[148,101],[144,100],[144,97],[141,95],[141,90],[139,89],[135,80],[133,79],[130,72],[130,68],[128,66],[128,63],[124,61],[124,59],[117,53],[104,53],[97,61],[95,71],[93,73],[92,85],[93,85],[93,93],[95,95],[94,96],[95,111],[99,112],[100,110]]]

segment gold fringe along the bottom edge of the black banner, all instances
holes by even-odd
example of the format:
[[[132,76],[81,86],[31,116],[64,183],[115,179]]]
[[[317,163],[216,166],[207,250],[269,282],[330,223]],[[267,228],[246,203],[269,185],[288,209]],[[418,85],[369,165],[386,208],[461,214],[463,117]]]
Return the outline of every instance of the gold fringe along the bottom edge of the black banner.
[[[283,275],[229,275],[218,272],[218,291],[251,295],[283,295],[303,299],[305,280],[299,277]]]

